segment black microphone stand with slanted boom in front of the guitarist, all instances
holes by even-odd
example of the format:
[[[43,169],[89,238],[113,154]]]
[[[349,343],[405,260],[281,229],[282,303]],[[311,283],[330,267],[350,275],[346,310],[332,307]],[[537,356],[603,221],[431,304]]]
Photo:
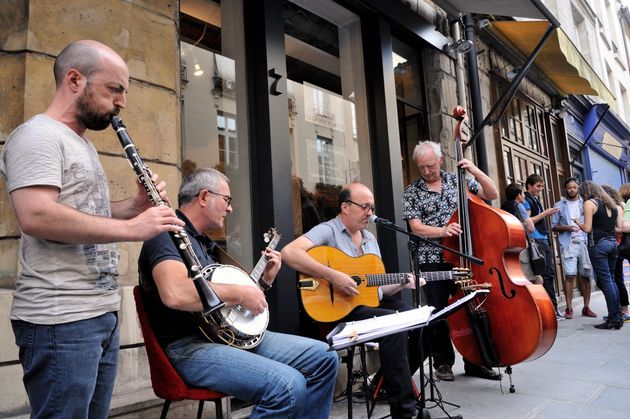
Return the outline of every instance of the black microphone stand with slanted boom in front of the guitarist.
[[[484,261],[472,256],[472,255],[466,255],[458,250],[452,249],[450,247],[444,246],[440,243],[435,243],[431,240],[429,240],[426,237],[420,236],[416,233],[407,231],[406,229],[394,224],[393,222],[383,219],[383,218],[377,218],[375,217],[374,219],[371,219],[372,222],[374,222],[377,225],[380,225],[382,227],[385,227],[387,229],[390,230],[394,230],[397,231],[399,233],[405,234],[409,237],[409,243],[408,243],[408,249],[411,253],[411,258],[412,258],[412,268],[413,268],[413,276],[414,276],[414,281],[415,281],[415,288],[413,290],[413,300],[414,300],[414,304],[416,305],[416,307],[420,307],[420,267],[418,266],[418,260],[417,260],[417,252],[418,252],[418,243],[424,243],[424,244],[428,244],[430,246],[434,246],[434,247],[439,247],[442,250],[446,250],[447,252],[451,252],[454,253],[464,259],[469,260],[472,263],[476,263],[478,265],[483,265]],[[420,355],[420,359],[419,359],[419,376],[420,376],[420,413],[418,413],[418,419],[431,419],[431,414],[429,413],[429,411],[427,410],[426,407],[426,395],[425,395],[425,389],[424,389],[424,337],[423,337],[423,333],[424,333],[424,328],[420,328],[420,331],[418,332],[419,336],[418,336],[418,351],[419,351],[419,355]],[[431,400],[435,401],[434,396],[433,396],[433,373],[431,371],[432,365],[431,365],[431,358],[429,355],[429,384],[431,385]],[[447,402],[444,402],[447,403]],[[440,403],[438,403],[436,401],[436,404],[438,404],[440,406],[440,408],[442,409],[442,411],[444,413],[446,413],[446,415],[448,416],[448,418],[450,419],[462,419],[461,415],[449,415],[448,412],[446,412],[446,410],[444,410],[444,407],[441,406]],[[452,404],[452,403],[449,403]],[[457,405],[455,405],[456,407],[459,407]],[[442,419],[442,418],[436,418],[436,419]]]

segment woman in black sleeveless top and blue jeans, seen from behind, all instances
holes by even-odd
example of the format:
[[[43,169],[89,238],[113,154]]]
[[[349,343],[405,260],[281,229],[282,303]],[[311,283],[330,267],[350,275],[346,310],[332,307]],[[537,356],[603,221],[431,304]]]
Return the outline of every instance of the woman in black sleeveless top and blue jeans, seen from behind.
[[[586,233],[590,233],[589,248],[591,263],[595,271],[597,286],[606,298],[608,318],[597,324],[597,329],[617,329],[623,326],[623,316],[619,305],[619,292],[613,280],[617,242],[615,231],[621,231],[621,214],[615,201],[608,196],[601,186],[591,181],[580,185],[580,195],[584,199],[584,223],[573,221]]]

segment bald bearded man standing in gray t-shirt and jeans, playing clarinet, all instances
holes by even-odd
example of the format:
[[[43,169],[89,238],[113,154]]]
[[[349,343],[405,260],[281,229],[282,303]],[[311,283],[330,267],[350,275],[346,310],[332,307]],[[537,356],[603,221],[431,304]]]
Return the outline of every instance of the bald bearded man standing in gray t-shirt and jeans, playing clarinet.
[[[110,202],[86,132],[103,130],[126,104],[129,70],[104,44],[64,48],[43,114],[13,131],[0,172],[22,236],[11,324],[32,418],[105,418],[118,364],[120,296],[115,242],[179,232],[168,206],[144,187]],[[152,182],[166,200],[164,182]]]

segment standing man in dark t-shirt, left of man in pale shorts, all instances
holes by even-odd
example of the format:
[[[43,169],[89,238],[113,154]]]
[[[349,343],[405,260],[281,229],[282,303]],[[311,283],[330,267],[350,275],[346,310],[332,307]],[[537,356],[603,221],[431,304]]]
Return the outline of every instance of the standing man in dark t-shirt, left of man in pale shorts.
[[[556,291],[553,283],[556,278],[556,268],[553,260],[553,254],[551,253],[551,246],[549,245],[549,235],[547,233],[546,218],[551,217],[558,212],[558,208],[547,208],[543,210],[540,203],[540,193],[545,188],[545,182],[542,176],[538,174],[529,175],[525,181],[525,209],[534,222],[534,231],[532,232],[532,240],[539,244],[545,255],[545,261],[547,262],[547,271],[543,275],[543,287],[549,294],[553,306],[556,308],[556,318],[563,320],[564,316],[558,311],[558,300],[556,299]]]

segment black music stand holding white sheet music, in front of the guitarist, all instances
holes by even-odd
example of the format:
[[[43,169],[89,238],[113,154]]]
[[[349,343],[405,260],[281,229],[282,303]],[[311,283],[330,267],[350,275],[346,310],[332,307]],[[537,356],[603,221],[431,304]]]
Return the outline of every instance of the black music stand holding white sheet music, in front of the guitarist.
[[[372,341],[374,339],[378,339],[378,338],[382,338],[384,336],[388,336],[391,334],[395,334],[395,333],[401,333],[401,332],[408,332],[411,330],[415,330],[415,329],[423,329],[427,326],[429,326],[431,324],[431,322],[433,321],[438,321],[438,320],[443,320],[446,317],[450,316],[452,313],[454,313],[455,311],[461,309],[462,307],[464,307],[464,305],[466,305],[468,302],[470,302],[470,300],[472,300],[473,298],[479,297],[480,295],[483,294],[488,294],[490,291],[489,290],[477,290],[474,291],[468,295],[466,295],[463,298],[460,298],[459,300],[455,301],[453,304],[450,304],[446,307],[444,307],[442,310],[433,313],[429,316],[429,318],[426,321],[422,321],[419,320],[419,323],[416,324],[411,324],[409,325],[408,322],[408,318],[404,317],[403,315],[399,316],[399,313],[394,313],[394,314],[388,314],[385,316],[380,316],[380,317],[375,317],[372,319],[366,319],[366,320],[358,320],[358,321],[353,321],[353,322],[343,322],[343,323],[339,323],[332,331],[330,331],[330,333],[328,333],[326,335],[326,341],[328,342],[328,350],[332,351],[332,350],[339,350],[339,349],[344,349],[344,348],[354,348],[356,345],[360,345],[363,344],[365,342],[368,341]],[[408,312],[407,312],[408,313]],[[395,324],[395,319],[396,316],[399,316],[401,318],[401,324],[402,326],[397,327]],[[389,318],[388,320],[392,320],[392,322],[394,323],[392,325],[392,322],[389,322],[390,325],[386,328],[382,328],[379,327],[379,322],[382,322],[384,318]],[[372,328],[370,328],[370,325],[373,325]],[[359,327],[361,326],[361,327]],[[365,327],[363,327],[365,326]],[[346,328],[350,328],[350,330],[352,330],[352,328],[355,327],[357,329],[363,329],[364,332],[361,334],[357,334],[357,335],[352,335],[351,337],[348,338],[342,338],[342,339],[338,339],[337,341],[335,341],[335,336],[340,334],[342,331],[344,331]],[[347,331],[346,331],[347,332]],[[420,348],[422,348],[422,343],[420,343]],[[353,349],[354,350],[354,349]],[[424,388],[423,388],[423,375],[424,375],[424,371],[422,371],[422,364],[423,364],[423,360],[421,360],[420,362],[420,394],[421,394],[421,400],[420,400],[420,414],[418,417],[421,418],[430,418],[430,415],[426,409],[426,405],[425,405],[425,395],[424,395]],[[442,408],[442,410],[444,410],[444,408]],[[446,413],[448,415],[448,413],[446,411],[444,411],[444,413]],[[455,418],[455,417],[461,417],[460,415],[455,415],[455,416],[450,416],[450,418]]]

